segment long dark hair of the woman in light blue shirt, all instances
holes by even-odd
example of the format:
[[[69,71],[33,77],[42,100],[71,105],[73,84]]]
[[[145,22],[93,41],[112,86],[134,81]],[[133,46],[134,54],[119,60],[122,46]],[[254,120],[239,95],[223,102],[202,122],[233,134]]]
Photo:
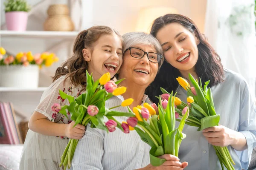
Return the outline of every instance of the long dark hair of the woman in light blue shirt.
[[[198,44],[198,61],[195,64],[195,72],[201,78],[202,82],[210,80],[209,87],[222,82],[224,70],[221,59],[191,19],[180,14],[166,14],[154,20],[150,34],[156,37],[157,32],[170,23],[179,23],[192,34],[195,33],[200,41]],[[162,94],[160,87],[169,92],[176,91],[179,86],[176,78],[179,76],[181,76],[180,71],[164,61],[154,82],[146,89],[146,94],[153,102],[157,103],[155,96]]]

